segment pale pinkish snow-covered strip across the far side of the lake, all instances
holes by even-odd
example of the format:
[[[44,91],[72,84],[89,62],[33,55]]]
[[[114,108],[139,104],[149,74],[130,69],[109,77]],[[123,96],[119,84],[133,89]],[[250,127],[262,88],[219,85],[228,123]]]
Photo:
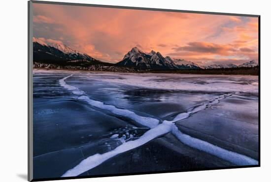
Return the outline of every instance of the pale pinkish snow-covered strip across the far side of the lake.
[[[258,92],[258,76],[251,75],[98,73],[89,74],[88,77],[110,83],[126,84],[152,89]]]

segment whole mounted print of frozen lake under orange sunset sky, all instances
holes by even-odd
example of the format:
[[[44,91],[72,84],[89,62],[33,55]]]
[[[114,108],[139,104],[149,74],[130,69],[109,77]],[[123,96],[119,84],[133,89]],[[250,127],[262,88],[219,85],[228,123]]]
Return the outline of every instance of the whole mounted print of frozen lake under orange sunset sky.
[[[260,166],[259,23],[29,1],[29,181]]]

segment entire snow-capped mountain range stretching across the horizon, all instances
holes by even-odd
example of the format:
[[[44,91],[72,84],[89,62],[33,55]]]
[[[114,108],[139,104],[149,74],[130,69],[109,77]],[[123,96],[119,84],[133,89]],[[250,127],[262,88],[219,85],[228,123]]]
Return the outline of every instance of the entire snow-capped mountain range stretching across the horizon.
[[[101,70],[178,70],[178,69],[213,69],[213,68],[237,68],[254,67],[257,62],[252,60],[240,65],[235,64],[212,64],[202,67],[192,61],[171,59],[162,56],[160,52],[151,51],[144,53],[134,47],[124,58],[113,64],[99,61],[86,53],[71,49],[65,44],[47,44],[42,39],[33,37],[33,57],[35,67],[52,68],[62,66],[67,69],[99,69]]]

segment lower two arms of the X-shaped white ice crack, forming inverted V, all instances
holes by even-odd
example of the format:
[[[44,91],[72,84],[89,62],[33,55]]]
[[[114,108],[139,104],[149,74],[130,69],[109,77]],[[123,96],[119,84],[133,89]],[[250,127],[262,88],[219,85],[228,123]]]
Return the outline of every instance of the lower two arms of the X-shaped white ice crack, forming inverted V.
[[[255,159],[252,159],[250,157],[247,157],[245,155],[242,155],[236,152],[231,152],[231,151],[222,149],[220,147],[214,146],[203,140],[193,138],[189,135],[183,134],[181,131],[178,130],[177,126],[173,122],[163,121],[162,124],[159,124],[158,126],[148,130],[137,140],[123,143],[122,145],[114,149],[113,151],[102,153],[102,154],[97,153],[95,155],[89,156],[88,158],[82,160],[77,166],[68,170],[64,175],[62,175],[62,177],[78,176],[102,164],[102,162],[104,162],[105,160],[117,154],[135,149],[169,132],[171,132],[177,139],[179,139],[185,145],[201,150],[203,152],[210,153],[214,156],[230,161],[236,165],[257,165],[258,164],[258,161]]]

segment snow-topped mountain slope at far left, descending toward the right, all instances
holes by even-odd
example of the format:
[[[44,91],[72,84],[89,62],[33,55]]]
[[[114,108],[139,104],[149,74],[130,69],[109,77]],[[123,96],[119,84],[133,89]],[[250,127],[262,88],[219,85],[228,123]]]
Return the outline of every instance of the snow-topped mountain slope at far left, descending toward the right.
[[[85,53],[75,51],[65,44],[47,44],[43,40],[33,37],[34,61],[45,63],[61,63],[67,61],[95,62],[100,61]]]

